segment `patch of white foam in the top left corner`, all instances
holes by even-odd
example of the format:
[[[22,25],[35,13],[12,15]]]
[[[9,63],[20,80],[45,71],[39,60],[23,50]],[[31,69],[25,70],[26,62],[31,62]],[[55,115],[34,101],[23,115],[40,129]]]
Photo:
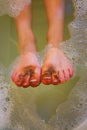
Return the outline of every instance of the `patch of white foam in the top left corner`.
[[[11,17],[16,17],[30,3],[31,0],[0,0],[0,15],[8,14]]]

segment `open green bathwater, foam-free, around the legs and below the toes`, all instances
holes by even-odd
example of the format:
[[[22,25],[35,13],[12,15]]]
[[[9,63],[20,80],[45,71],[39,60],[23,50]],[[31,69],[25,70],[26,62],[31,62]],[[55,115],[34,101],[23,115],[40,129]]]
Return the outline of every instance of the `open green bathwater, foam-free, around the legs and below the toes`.
[[[67,7],[68,8],[68,7]],[[72,12],[65,16],[64,39],[69,38],[68,23],[72,21]],[[33,31],[37,38],[38,50],[43,50],[46,45],[47,19],[42,0],[33,1]],[[14,26],[14,20],[9,16],[0,17],[0,61],[8,69],[18,56],[17,33]],[[36,111],[41,119],[46,122],[56,113],[59,104],[67,100],[72,88],[77,83],[79,77],[74,77],[67,83],[57,86],[45,86],[41,84],[37,88],[21,89],[12,84],[11,95],[13,96],[14,110],[16,113],[22,112],[22,107],[26,108],[27,104],[34,103]],[[22,102],[22,105],[20,105]],[[16,116],[13,114],[13,119]]]

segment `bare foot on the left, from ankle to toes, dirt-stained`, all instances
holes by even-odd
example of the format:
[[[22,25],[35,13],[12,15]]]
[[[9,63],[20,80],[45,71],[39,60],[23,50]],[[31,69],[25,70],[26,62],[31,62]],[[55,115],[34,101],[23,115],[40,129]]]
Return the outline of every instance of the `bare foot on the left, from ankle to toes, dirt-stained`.
[[[12,73],[13,82],[20,87],[36,87],[40,84],[41,67],[36,54],[28,52],[20,56]]]

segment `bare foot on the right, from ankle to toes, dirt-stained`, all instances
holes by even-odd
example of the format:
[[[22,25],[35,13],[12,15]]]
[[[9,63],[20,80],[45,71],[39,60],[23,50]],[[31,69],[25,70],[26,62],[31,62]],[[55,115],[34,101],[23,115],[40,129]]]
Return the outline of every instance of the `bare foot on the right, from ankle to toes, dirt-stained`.
[[[42,66],[43,84],[61,84],[73,76],[73,67],[63,51],[59,48],[50,48]]]

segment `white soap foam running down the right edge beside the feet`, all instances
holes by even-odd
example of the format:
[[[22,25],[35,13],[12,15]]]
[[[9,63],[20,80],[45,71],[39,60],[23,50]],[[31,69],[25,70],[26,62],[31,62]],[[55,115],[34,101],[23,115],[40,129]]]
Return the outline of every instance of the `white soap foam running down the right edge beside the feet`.
[[[79,81],[49,120],[59,130],[72,130],[87,119],[87,0],[73,0],[73,3],[75,19],[69,25],[71,38],[62,47],[74,63]]]

